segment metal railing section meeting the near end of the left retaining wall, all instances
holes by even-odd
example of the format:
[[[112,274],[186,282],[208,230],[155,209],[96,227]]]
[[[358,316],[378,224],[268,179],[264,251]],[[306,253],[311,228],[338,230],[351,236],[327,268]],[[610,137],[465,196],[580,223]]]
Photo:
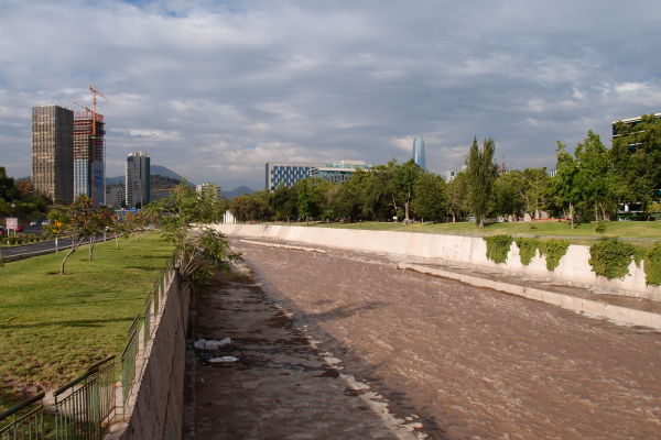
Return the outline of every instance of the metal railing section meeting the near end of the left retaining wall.
[[[53,393],[57,440],[100,440],[115,410],[115,356]]]

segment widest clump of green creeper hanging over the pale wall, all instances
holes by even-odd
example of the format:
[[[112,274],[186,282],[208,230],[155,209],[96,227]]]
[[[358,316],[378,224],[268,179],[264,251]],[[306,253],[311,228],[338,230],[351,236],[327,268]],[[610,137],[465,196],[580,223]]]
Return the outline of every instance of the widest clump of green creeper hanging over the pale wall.
[[[629,274],[631,258],[638,254],[635,245],[618,239],[602,238],[589,248],[589,264],[597,275],[608,279]]]

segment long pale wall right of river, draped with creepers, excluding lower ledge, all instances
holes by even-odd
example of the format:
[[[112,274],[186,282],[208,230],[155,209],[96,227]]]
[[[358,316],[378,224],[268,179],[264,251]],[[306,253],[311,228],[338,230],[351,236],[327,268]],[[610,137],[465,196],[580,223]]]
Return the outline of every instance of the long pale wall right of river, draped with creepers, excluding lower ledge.
[[[481,266],[512,275],[528,276],[596,292],[661,300],[661,287],[647,286],[644,271],[631,262],[629,275],[622,279],[597,276],[588,263],[589,248],[570,245],[555,271],[546,270],[544,257],[538,255],[525,266],[519,258],[519,248],[512,243],[507,262],[487,260],[487,244],[481,238],[465,235],[423,234],[415,232],[365,231],[354,229],[286,227],[274,224],[216,224],[228,235],[274,239],[313,245],[357,251],[438,258],[453,264]]]

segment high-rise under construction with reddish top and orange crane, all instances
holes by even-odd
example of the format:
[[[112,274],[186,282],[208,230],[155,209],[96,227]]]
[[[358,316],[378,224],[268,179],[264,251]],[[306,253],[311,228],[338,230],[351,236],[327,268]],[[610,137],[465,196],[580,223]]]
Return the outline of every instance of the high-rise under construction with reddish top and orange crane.
[[[102,114],[74,114],[74,198],[85,195],[97,204],[106,201],[105,134]]]

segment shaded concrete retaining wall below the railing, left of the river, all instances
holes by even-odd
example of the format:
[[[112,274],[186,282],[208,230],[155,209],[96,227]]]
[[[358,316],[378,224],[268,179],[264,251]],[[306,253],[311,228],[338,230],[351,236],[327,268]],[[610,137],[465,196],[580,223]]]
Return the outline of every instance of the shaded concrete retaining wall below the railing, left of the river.
[[[144,363],[139,367],[141,375],[129,398],[126,422],[109,439],[182,438],[189,298],[188,289],[180,288],[174,276],[153,337],[144,350]]]

